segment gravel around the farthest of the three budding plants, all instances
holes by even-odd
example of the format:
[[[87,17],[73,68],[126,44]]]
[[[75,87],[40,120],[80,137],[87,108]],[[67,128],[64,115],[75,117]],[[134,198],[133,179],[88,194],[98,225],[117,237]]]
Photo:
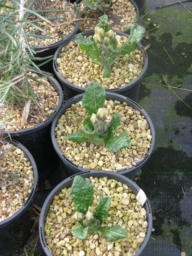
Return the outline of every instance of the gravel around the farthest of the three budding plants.
[[[115,35],[115,38],[118,40],[117,48],[127,40],[125,36]],[[71,41],[63,47],[57,65],[60,74],[74,85],[86,88],[90,82],[98,82],[105,89],[114,89],[125,86],[137,78],[143,70],[144,61],[138,49],[130,55],[120,55],[112,67],[111,76],[103,78],[103,67],[92,63],[91,58],[81,51],[80,46]]]

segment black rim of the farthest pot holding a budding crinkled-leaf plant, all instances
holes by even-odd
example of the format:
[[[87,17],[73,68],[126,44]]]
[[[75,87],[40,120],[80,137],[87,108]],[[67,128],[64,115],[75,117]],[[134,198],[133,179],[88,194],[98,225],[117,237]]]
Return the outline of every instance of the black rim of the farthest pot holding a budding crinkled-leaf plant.
[[[116,34],[121,35],[121,36],[126,36],[129,37],[129,35],[123,33],[123,32],[119,32],[119,31],[115,31],[113,30]],[[86,32],[83,32],[82,35],[84,36],[87,33],[94,33],[94,30],[88,30]],[[76,36],[74,36],[73,38],[71,38],[71,41],[75,38]],[[86,88],[82,88],[79,87],[73,83],[70,83],[69,81],[67,81],[59,72],[58,68],[57,68],[57,58],[59,56],[59,53],[61,52],[62,48],[65,47],[66,45],[68,45],[69,42],[67,42],[66,44],[61,45],[55,52],[54,55],[54,59],[53,59],[53,69],[54,72],[56,74],[56,76],[59,78],[60,81],[62,81],[63,83],[65,83],[69,88],[71,88],[72,90],[84,93]],[[122,86],[122,87],[118,87],[118,88],[114,88],[114,89],[105,89],[106,92],[114,92],[114,93],[120,93],[122,91],[125,91],[127,89],[132,88],[135,84],[137,84],[138,82],[141,81],[141,79],[144,77],[146,71],[147,71],[147,67],[148,67],[148,57],[147,57],[147,52],[145,50],[145,48],[140,44],[140,43],[136,43],[137,47],[139,48],[139,50],[141,50],[142,54],[143,54],[143,59],[144,59],[144,67],[143,70],[141,72],[141,74],[135,78],[135,80],[131,81],[130,83],[127,83],[126,85]]]

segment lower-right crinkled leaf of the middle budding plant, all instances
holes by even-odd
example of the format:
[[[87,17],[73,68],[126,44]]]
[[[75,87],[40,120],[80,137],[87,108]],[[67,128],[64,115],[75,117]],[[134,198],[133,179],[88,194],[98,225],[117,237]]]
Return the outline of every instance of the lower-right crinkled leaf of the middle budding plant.
[[[122,148],[130,147],[130,145],[130,137],[125,132],[105,141],[105,146],[107,147],[108,151],[121,150]]]

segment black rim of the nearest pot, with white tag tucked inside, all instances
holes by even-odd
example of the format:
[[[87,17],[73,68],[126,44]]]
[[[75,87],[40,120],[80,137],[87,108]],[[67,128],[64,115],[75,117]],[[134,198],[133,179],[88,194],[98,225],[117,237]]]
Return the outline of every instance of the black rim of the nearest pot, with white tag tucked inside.
[[[89,175],[90,174],[90,175]],[[132,180],[130,180],[129,178],[123,176],[123,175],[118,175],[116,173],[112,173],[112,174],[109,174],[108,171],[97,171],[97,170],[94,170],[94,171],[87,171],[87,172],[83,172],[83,173],[79,173],[79,174],[76,174],[76,175],[81,175],[81,176],[89,176],[89,177],[94,177],[97,175],[100,175],[102,177],[108,177],[110,178],[110,176],[115,176],[115,179],[118,180],[118,178],[121,178],[123,180],[125,180],[125,184],[126,183],[129,183],[131,184],[131,187],[134,188],[134,189],[137,189],[138,191],[140,190],[140,187],[135,184]],[[43,204],[43,207],[41,209],[41,214],[40,214],[40,218],[39,218],[39,234],[40,234],[40,242],[41,242],[41,247],[43,248],[44,252],[46,253],[47,256],[52,256],[51,252],[49,251],[48,247],[47,247],[47,244],[46,244],[46,240],[45,240],[45,231],[44,231],[44,220],[43,220],[43,217],[45,214],[47,214],[46,212],[46,206],[49,204],[49,200],[54,197],[57,193],[57,190],[60,189],[60,188],[64,188],[65,187],[65,184],[67,182],[69,182],[71,180],[71,184],[72,184],[72,180],[73,178],[76,176],[76,175],[73,175],[65,180],[63,180],[61,183],[59,183],[52,191],[51,193],[48,195],[48,197],[46,198],[44,204]],[[131,188],[131,189],[132,189]],[[133,190],[133,189],[132,189]],[[134,192],[134,191],[133,191]],[[145,205],[146,204],[146,205]],[[145,240],[142,244],[142,246],[140,247],[140,249],[138,250],[138,252],[135,253],[135,256],[139,256],[141,255],[141,253],[144,251],[145,247],[147,246],[147,243],[148,241],[150,240],[151,238],[151,232],[152,232],[152,227],[153,227],[153,218],[152,218],[152,210],[151,210],[151,206],[150,206],[150,203],[149,203],[149,200],[147,198],[146,202],[145,202],[144,208],[148,208],[149,210],[149,218],[147,220],[147,223],[148,223],[148,227],[147,227],[147,233],[146,233],[146,237],[145,237]]]

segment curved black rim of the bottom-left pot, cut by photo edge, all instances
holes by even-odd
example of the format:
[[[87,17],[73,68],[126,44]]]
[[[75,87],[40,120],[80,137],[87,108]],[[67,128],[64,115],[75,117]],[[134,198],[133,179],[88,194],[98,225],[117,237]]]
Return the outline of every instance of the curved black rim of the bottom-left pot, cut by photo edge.
[[[13,144],[14,146],[20,148],[21,150],[23,150],[25,155],[29,158],[31,166],[33,167],[34,183],[33,183],[33,187],[31,188],[31,192],[30,192],[27,200],[25,201],[24,205],[22,205],[22,207],[20,207],[20,209],[17,212],[15,212],[12,216],[10,216],[9,218],[1,221],[0,222],[0,227],[4,227],[7,224],[9,224],[10,222],[16,220],[19,217],[19,215],[21,215],[28,208],[28,205],[30,205],[32,203],[32,201],[35,197],[35,193],[36,193],[36,189],[37,189],[37,185],[38,185],[37,166],[36,166],[35,160],[34,160],[33,156],[31,155],[31,153],[27,150],[26,147],[24,147],[18,141],[15,141],[15,140],[6,140],[6,141],[9,142],[10,144]]]

